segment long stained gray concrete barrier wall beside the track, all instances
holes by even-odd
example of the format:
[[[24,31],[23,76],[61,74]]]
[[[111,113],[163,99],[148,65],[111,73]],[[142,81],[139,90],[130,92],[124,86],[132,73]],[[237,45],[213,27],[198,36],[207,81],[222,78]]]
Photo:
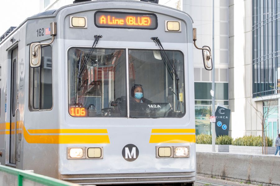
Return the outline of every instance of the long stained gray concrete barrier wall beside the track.
[[[197,152],[196,161],[198,174],[280,185],[279,156]]]

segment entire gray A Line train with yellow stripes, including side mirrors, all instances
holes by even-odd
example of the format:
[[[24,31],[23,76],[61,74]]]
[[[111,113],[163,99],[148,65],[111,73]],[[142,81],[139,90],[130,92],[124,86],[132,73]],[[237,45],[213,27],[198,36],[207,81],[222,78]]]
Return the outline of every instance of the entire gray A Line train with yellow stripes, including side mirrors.
[[[195,31],[183,11],[132,0],[27,18],[0,43],[1,164],[77,184],[193,184]]]

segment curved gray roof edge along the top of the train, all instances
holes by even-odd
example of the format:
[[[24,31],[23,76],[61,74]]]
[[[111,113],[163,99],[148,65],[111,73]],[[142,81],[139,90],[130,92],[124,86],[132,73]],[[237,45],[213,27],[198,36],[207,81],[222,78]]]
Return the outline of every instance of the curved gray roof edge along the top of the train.
[[[184,11],[180,11],[177,10],[175,8],[171,8],[169,6],[164,6],[164,5],[159,5],[156,3],[152,3],[152,2],[145,2],[145,1],[135,1],[135,0],[96,0],[96,1],[86,1],[86,2],[79,2],[79,3],[73,3],[70,5],[66,5],[66,6],[62,6],[59,9],[54,9],[54,10],[47,10],[44,12],[40,12],[38,14],[32,15],[31,17],[26,18],[18,27],[16,27],[13,31],[19,29],[21,27],[21,25],[23,25],[26,21],[30,20],[30,19],[39,19],[39,18],[45,18],[45,17],[56,17],[56,15],[58,14],[59,11],[63,10],[64,8],[68,8],[68,7],[72,7],[72,6],[77,6],[77,5],[82,5],[82,4],[90,4],[90,3],[97,3],[97,2],[128,2],[128,3],[143,3],[143,4],[149,4],[149,5],[155,5],[155,6],[161,6],[164,8],[168,8],[170,10],[174,10],[174,11],[179,11],[181,13],[186,14],[192,21],[192,23],[194,23],[194,20],[192,19],[192,17],[184,12]],[[7,39],[7,37],[5,37],[1,42],[5,41]],[[0,43],[1,43],[0,42]]]

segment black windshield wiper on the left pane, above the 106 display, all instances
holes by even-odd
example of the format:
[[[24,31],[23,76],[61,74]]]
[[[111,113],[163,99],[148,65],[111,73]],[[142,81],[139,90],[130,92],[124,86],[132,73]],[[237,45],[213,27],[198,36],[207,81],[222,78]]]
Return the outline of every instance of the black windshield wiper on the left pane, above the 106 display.
[[[86,55],[86,57],[84,59],[85,62],[82,65],[82,67],[81,67],[81,63],[82,63],[82,52],[81,52],[80,59],[79,59],[79,68],[78,68],[77,82],[76,82],[75,106],[77,104],[77,99],[78,99],[79,80],[81,81],[81,75],[84,72],[84,70],[86,69],[86,65],[87,65],[87,63],[89,61],[89,58],[91,57],[92,52],[94,51],[94,49],[95,49],[95,47],[96,47],[100,37],[103,37],[103,36],[102,35],[95,35],[94,36],[95,40],[93,42],[91,50],[89,51],[89,53],[87,53],[87,55]]]

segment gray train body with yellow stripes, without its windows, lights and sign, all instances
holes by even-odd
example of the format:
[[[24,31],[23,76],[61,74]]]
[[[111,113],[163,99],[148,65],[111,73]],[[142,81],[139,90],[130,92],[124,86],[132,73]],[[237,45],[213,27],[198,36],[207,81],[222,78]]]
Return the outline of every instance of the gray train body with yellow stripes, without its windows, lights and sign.
[[[156,29],[98,28],[94,24],[96,11],[152,13],[156,15],[158,25]],[[87,28],[70,28],[70,16],[86,17]],[[181,32],[166,32],[165,20],[180,21]],[[50,45],[51,71],[45,71],[44,80],[51,84],[46,93],[52,97],[46,100],[52,103],[48,102],[51,104],[48,109],[32,110],[35,77],[32,77],[30,67],[30,44],[51,40],[51,36],[45,34],[51,22],[57,23],[57,35]],[[42,28],[44,32],[40,34]],[[192,19],[186,13],[129,0],[77,3],[26,19],[0,43],[1,164],[79,184],[193,183],[196,158],[192,33]],[[151,37],[158,37],[165,50],[180,51],[184,65],[184,102],[181,102],[184,114],[180,117],[132,118],[128,117],[127,111],[125,117],[71,116],[68,52],[72,48],[90,49],[94,35],[103,36],[96,48],[125,51],[127,73],[130,70],[127,67],[129,50],[159,50]],[[128,76],[126,74],[126,100],[130,95]],[[152,95],[155,90],[150,92]],[[156,99],[156,96],[151,97]],[[138,149],[135,161],[127,161],[122,155],[128,144]],[[175,146],[188,146],[189,156],[158,158],[156,147],[159,146],[172,148],[172,156]],[[102,148],[102,158],[71,159],[68,152],[71,147]],[[130,155],[133,156],[132,152]]]

